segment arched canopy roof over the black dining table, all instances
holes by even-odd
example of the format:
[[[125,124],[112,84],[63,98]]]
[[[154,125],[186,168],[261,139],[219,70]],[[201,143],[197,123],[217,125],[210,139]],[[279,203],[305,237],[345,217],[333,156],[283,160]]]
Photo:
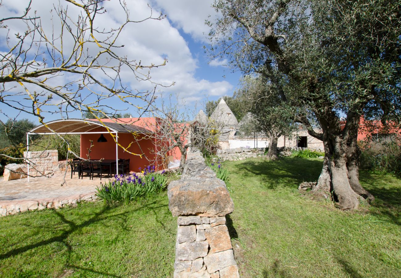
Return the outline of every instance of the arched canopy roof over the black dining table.
[[[54,134],[53,131],[56,133],[89,133],[99,127],[106,127],[112,133],[151,133],[148,129],[137,125],[124,125],[83,119],[65,119],[51,121],[44,125],[34,127],[28,134]]]

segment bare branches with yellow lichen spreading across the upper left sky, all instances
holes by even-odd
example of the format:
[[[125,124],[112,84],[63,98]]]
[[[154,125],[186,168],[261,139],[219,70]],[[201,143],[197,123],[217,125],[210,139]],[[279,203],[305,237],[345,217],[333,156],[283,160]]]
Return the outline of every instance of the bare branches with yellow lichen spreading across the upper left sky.
[[[164,16],[154,15],[149,7],[148,14],[132,18],[124,1],[113,2],[120,10],[118,26],[105,26],[102,21],[107,13],[104,0],[61,0],[49,3],[48,12],[38,12],[29,1],[20,14],[0,18],[3,107],[37,117],[38,124],[45,124],[52,114],[71,118],[76,111],[85,118],[112,119],[130,107],[142,115],[155,98],[156,86],[163,86],[150,80],[150,70],[167,60],[144,64],[122,54],[123,30]],[[4,8],[0,2],[0,9]],[[132,89],[132,80],[148,82],[150,89]],[[119,101],[118,107],[111,104],[113,99]],[[68,140],[56,135],[69,146]],[[79,157],[73,148],[67,149]]]

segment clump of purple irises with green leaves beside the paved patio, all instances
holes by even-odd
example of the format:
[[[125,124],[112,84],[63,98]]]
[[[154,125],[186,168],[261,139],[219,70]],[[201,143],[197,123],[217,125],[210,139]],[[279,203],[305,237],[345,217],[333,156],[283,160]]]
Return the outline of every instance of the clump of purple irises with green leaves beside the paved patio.
[[[96,188],[96,195],[107,202],[129,203],[135,200],[150,198],[166,187],[167,179],[164,171],[158,174],[154,166],[148,166],[143,176],[137,174],[115,175],[113,180],[107,181]]]

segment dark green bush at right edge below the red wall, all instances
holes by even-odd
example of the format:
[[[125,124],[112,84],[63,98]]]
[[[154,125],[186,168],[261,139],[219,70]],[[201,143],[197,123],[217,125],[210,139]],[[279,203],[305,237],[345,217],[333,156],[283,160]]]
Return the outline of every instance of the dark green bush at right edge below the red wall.
[[[376,174],[401,176],[401,145],[397,142],[360,143],[360,168]]]

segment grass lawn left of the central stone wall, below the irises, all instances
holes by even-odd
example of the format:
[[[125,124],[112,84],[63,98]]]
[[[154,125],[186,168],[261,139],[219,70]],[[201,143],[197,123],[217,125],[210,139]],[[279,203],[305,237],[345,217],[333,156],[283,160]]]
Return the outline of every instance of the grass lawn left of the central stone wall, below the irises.
[[[177,222],[163,192],[0,219],[0,277],[172,277]]]

